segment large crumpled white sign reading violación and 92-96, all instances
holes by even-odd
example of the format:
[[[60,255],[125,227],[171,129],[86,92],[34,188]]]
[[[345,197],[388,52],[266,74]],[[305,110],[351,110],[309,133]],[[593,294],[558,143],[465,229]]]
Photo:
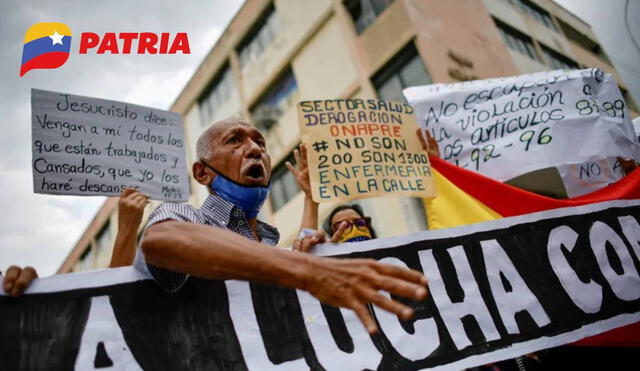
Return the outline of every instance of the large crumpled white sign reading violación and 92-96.
[[[606,157],[640,159],[627,105],[599,69],[404,90],[443,159],[499,181]]]

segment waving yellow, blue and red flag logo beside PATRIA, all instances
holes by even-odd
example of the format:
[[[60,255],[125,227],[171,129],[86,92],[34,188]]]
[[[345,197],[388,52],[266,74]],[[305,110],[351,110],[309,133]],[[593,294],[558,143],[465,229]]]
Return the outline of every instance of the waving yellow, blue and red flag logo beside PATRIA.
[[[69,59],[71,29],[64,23],[36,23],[24,35],[20,76],[36,68],[58,68]]]

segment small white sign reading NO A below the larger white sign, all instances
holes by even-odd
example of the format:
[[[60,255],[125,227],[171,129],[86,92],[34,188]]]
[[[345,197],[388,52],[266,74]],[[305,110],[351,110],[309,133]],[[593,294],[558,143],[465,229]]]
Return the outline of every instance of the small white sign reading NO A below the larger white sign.
[[[582,164],[558,166],[567,196],[579,197],[597,191],[624,177],[624,167],[617,157]]]

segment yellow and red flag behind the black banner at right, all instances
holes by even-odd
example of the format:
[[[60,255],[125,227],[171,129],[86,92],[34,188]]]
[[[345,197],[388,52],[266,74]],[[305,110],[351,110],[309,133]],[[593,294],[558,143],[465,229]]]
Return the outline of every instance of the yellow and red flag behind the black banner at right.
[[[451,228],[561,207],[640,199],[640,169],[602,188],[565,200],[531,193],[429,157],[438,196],[425,199],[429,229]],[[633,243],[633,242],[632,242]],[[573,345],[640,347],[640,322],[588,337]]]

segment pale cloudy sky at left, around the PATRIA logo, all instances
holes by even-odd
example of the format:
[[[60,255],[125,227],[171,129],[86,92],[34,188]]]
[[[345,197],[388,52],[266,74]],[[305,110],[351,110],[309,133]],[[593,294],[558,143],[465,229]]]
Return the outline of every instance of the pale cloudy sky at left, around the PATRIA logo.
[[[16,264],[54,274],[105,200],[33,193],[31,88],[169,109],[242,3],[0,0],[0,271]],[[24,35],[37,22],[69,26],[71,55],[20,77]],[[191,54],[80,55],[82,32],[187,32]]]

